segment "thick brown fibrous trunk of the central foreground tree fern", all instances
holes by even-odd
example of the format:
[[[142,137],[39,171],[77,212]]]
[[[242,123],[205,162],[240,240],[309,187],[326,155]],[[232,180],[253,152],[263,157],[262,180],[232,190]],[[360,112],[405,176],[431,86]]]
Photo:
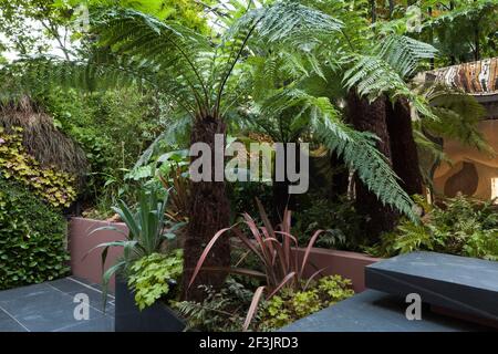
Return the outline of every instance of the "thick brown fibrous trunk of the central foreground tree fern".
[[[212,117],[198,119],[191,132],[191,143],[206,143],[210,146],[211,171],[215,170],[215,134],[226,133],[225,123]],[[226,194],[225,181],[191,183],[189,200],[188,235],[184,247],[184,293],[188,300],[201,300],[205,292],[198,288],[200,284],[220,289],[225,283],[226,274],[222,272],[201,271],[196,281],[186,291],[193,270],[200,258],[206,244],[215,233],[229,226],[230,205]],[[230,243],[228,237],[221,237],[211,249],[206,259],[205,267],[229,267]]]

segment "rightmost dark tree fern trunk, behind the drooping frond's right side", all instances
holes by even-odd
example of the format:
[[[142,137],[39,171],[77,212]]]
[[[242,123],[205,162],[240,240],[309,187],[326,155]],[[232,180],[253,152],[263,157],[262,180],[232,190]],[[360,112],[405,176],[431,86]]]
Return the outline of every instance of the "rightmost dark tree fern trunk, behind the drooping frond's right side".
[[[401,186],[409,196],[421,195],[423,179],[417,146],[413,138],[408,102],[406,98],[400,98],[394,106],[387,104],[386,113],[394,171],[402,179]]]

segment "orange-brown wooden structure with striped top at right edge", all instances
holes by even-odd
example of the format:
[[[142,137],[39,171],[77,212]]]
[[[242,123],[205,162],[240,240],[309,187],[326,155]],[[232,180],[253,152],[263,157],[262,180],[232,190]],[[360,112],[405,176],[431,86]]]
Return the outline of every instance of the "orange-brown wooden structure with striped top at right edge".
[[[428,84],[444,84],[465,91],[486,108],[479,131],[498,153],[498,58],[443,67],[423,74]],[[444,152],[452,164],[442,164],[434,175],[436,194],[463,192],[479,199],[498,198],[498,156],[445,139]],[[497,200],[498,204],[498,200]]]

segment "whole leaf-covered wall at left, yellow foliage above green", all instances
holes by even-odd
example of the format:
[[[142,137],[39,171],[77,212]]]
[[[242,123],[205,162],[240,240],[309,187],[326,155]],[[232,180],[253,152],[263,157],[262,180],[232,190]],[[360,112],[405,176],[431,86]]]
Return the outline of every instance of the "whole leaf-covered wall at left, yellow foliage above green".
[[[22,128],[0,126],[0,290],[69,273],[66,220],[74,177],[28,154]]]

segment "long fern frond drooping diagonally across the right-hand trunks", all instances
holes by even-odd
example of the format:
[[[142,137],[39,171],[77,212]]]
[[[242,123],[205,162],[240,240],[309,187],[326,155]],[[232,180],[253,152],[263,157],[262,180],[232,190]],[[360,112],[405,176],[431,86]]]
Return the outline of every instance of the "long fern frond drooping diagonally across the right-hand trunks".
[[[326,97],[314,97],[295,88],[279,91],[261,106],[260,114],[269,121],[293,108],[295,119],[308,116],[309,126],[323,144],[342,156],[347,166],[384,205],[390,205],[412,220],[417,220],[413,201],[398,184],[385,156],[375,147],[376,137],[344,124],[339,111]]]

